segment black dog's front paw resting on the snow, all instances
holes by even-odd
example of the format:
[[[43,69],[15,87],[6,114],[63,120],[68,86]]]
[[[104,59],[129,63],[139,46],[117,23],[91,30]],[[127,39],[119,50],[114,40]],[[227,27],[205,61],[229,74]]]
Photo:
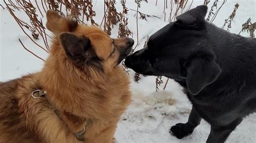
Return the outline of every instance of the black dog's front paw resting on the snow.
[[[176,136],[178,139],[182,139],[193,132],[192,128],[187,127],[186,124],[178,123],[171,127],[169,133]]]

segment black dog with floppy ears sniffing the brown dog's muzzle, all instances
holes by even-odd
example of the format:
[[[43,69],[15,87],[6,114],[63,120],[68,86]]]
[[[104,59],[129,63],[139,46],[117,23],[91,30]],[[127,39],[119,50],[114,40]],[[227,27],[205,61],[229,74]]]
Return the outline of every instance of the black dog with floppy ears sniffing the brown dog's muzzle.
[[[228,33],[205,21],[198,6],[153,34],[147,48],[125,65],[139,74],[177,81],[193,104],[187,123],[170,132],[181,139],[204,118],[211,124],[206,142],[224,142],[242,118],[256,112],[256,40]]]

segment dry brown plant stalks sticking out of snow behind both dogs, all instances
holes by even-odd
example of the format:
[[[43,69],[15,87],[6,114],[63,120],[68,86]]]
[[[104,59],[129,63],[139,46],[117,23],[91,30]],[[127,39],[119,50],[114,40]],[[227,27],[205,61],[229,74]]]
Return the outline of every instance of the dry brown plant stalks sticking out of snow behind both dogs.
[[[214,19],[217,17],[219,10],[222,8],[222,6],[226,3],[227,0],[220,1],[215,0],[213,5],[211,6],[211,9],[209,11],[207,21],[212,23]],[[19,27],[21,27],[22,31],[28,36],[28,38],[31,40],[33,44],[38,46],[39,48],[43,49],[44,52],[49,53],[49,44],[48,41],[51,39],[48,34],[45,32],[44,23],[42,22],[42,19],[39,19],[38,16],[44,17],[45,12],[48,9],[54,10],[62,16],[67,16],[69,18],[77,19],[79,23],[85,24],[85,23],[91,23],[91,25],[99,26],[95,20],[93,19],[96,16],[96,12],[93,10],[93,3],[92,0],[41,0],[41,1],[35,1],[35,3],[31,3],[31,1],[22,1],[22,0],[8,0],[4,1],[6,8],[10,12],[11,16],[14,17]],[[202,4],[204,2],[204,5],[207,5],[210,0],[204,0],[202,1]],[[120,3],[122,4],[122,11],[118,11],[116,9],[116,4]],[[129,15],[130,11],[135,11],[136,15],[136,45],[132,49],[132,52],[140,45],[142,41],[139,41],[139,30],[138,27],[139,19],[147,20],[149,17],[153,18],[159,18],[157,16],[149,15],[147,13],[143,13],[140,11],[140,7],[142,6],[141,3],[147,3],[147,0],[134,0],[134,3],[137,4],[137,10],[129,9],[126,7],[126,0],[104,0],[104,16],[102,18],[102,22],[100,23],[100,27],[103,26],[104,31],[107,32],[109,35],[112,33],[113,26],[119,26],[118,27],[118,37],[132,37],[133,38],[133,31],[129,30],[129,19],[127,15]],[[164,15],[164,21],[167,20],[167,22],[171,23],[174,20],[176,20],[176,16],[178,13],[183,13],[188,10],[190,10],[191,5],[193,3],[193,0],[164,0],[164,1],[157,1],[157,4],[163,4],[163,15]],[[0,5],[2,6],[2,5]],[[233,18],[235,17],[235,13],[238,9],[239,5],[236,4],[233,12],[231,13],[230,17],[225,19],[225,23],[223,25],[223,28],[227,26],[227,30],[229,31],[231,28],[231,24],[233,21]],[[4,9],[4,7],[2,6]],[[166,13],[167,9],[169,9],[170,13]],[[21,17],[18,17],[16,15],[17,11],[23,11],[25,12],[26,16],[29,18],[29,23],[26,23],[24,19],[21,19]],[[169,18],[166,19],[166,15],[169,15]],[[159,18],[160,19],[160,18]],[[251,37],[254,37],[254,31],[255,31],[256,24],[251,23],[251,19],[248,19],[246,23],[242,25],[242,30],[240,32],[247,31],[250,33]],[[134,31],[135,32],[135,31]],[[135,35],[135,34],[134,34]],[[146,37],[145,37],[146,38]],[[145,40],[143,38],[142,40]],[[38,44],[38,39],[42,39],[43,45]],[[148,39],[148,37],[147,37]],[[147,39],[145,40],[144,46],[146,46]],[[22,47],[31,53],[32,55],[36,56],[40,60],[44,60],[40,56],[36,55],[32,51],[29,50],[29,48],[26,48],[25,45],[22,43],[22,41],[19,39],[19,42],[21,42]],[[129,74],[129,69],[125,67],[124,62],[122,62],[122,66],[126,70],[126,72]],[[141,77],[139,77],[139,74],[136,74],[134,76],[134,80],[138,82]],[[165,87],[168,80],[165,83]],[[158,90],[159,85],[163,83],[163,80],[161,80],[161,77],[156,78],[156,90]],[[164,89],[165,89],[164,87]]]

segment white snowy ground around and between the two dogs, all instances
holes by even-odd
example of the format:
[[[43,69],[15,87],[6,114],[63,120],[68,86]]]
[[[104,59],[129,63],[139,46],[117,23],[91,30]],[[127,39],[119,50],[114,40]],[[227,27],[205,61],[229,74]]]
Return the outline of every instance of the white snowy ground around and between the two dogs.
[[[194,1],[191,8],[203,4],[203,2],[203,0]],[[104,13],[103,1],[93,1],[93,3],[97,13],[95,21],[100,23]],[[117,3],[117,9],[121,8],[119,1]],[[137,5],[133,0],[129,0],[126,3],[127,8],[137,9]],[[211,6],[212,3],[213,0],[208,5]],[[222,1],[219,3],[222,3]],[[230,32],[239,33],[241,24],[246,22],[248,18],[251,17],[252,22],[256,20],[255,0],[228,0],[213,23],[219,27],[223,26],[224,20],[233,11],[235,3],[239,3],[240,6],[237,16],[235,16],[232,22]],[[0,4],[4,6],[3,1]],[[157,6],[155,4],[156,1],[154,0],[149,0],[149,4],[142,2],[142,6],[139,9],[143,13],[158,16],[161,19],[152,17],[147,18],[147,21],[139,19],[139,46],[137,49],[143,47],[147,35],[153,34],[167,24],[164,22],[164,1],[158,1]],[[30,42],[6,9],[3,10],[0,7],[0,11],[0,81],[8,81],[28,73],[39,71],[44,63],[26,52],[19,44],[18,38],[23,41],[26,47],[44,59],[46,59],[48,54]],[[24,13],[18,12],[17,15],[18,17],[22,17]],[[134,11],[129,11],[129,28],[133,32],[133,38],[136,39],[136,18],[134,15]],[[168,18],[169,16],[166,16],[166,19]],[[43,22],[45,22],[45,18],[43,18]],[[111,37],[114,38],[117,36],[117,26],[114,27],[112,33]],[[241,35],[245,37],[249,36],[248,33],[242,33]],[[42,44],[42,41],[39,40],[38,42]],[[133,76],[134,72],[131,71],[133,102],[122,116],[122,120],[119,121],[116,131],[118,142],[206,141],[210,132],[210,126],[204,120],[201,121],[201,124],[194,130],[193,134],[184,139],[179,140],[169,134],[170,126],[180,122],[185,123],[191,110],[190,102],[188,102],[188,99],[181,91],[182,88],[177,83],[169,81],[166,90],[162,90],[164,86],[162,84],[159,87],[160,90],[156,92],[156,77],[142,76],[142,80],[136,83],[133,81]],[[166,78],[163,77],[163,80],[165,82]],[[226,142],[256,142],[256,113],[246,117],[236,130],[231,133]]]

